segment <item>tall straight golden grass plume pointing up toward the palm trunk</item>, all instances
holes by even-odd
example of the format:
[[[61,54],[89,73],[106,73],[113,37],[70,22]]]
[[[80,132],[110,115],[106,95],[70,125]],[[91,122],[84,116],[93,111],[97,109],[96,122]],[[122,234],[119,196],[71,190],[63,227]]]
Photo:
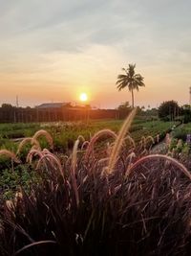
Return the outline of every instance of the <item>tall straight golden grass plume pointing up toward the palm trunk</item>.
[[[110,159],[109,159],[107,174],[111,174],[113,172],[113,169],[114,169],[114,167],[116,165],[116,162],[117,162],[118,153],[119,153],[119,151],[121,149],[121,146],[123,144],[124,136],[125,136],[126,132],[128,131],[128,129],[131,126],[131,123],[132,123],[132,121],[133,121],[133,119],[136,115],[136,111],[137,111],[137,108],[134,108],[132,110],[132,112],[129,114],[126,121],[124,122],[122,128],[119,130],[119,133],[118,133],[118,136],[116,138],[112,154],[111,154]]]

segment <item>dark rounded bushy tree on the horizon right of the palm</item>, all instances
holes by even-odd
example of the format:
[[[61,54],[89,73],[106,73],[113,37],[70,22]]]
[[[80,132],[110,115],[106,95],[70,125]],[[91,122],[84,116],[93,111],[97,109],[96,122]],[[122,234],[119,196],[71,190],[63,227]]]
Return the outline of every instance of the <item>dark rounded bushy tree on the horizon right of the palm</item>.
[[[163,102],[159,105],[159,118],[170,121],[180,115],[180,106],[175,101]]]

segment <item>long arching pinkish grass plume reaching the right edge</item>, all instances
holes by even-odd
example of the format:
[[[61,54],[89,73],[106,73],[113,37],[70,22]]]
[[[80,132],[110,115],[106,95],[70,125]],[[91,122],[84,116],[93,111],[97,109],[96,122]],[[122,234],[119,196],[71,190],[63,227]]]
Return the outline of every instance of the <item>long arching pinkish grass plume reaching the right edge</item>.
[[[140,159],[138,159],[138,161],[133,164],[133,166],[127,170],[127,175],[131,175],[137,168],[139,165],[143,164],[145,161],[147,160],[153,160],[153,159],[160,159],[160,160],[166,160],[171,162],[174,166],[176,166],[184,175],[186,175],[187,177],[189,177],[191,179],[191,174],[190,172],[188,172],[188,170],[175,158],[172,158],[168,155],[163,155],[163,154],[150,154],[150,155],[146,155],[141,157]]]

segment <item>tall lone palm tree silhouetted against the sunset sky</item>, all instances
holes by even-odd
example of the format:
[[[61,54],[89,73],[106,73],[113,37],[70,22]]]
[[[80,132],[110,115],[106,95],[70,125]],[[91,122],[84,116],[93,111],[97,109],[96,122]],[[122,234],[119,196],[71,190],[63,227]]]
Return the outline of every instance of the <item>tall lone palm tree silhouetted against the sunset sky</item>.
[[[118,75],[117,77],[117,89],[128,87],[129,91],[132,93],[132,107],[134,108],[134,90],[138,90],[139,86],[145,86],[143,80],[144,78],[139,74],[135,74],[136,64],[129,64],[128,68],[122,68],[125,75]]]

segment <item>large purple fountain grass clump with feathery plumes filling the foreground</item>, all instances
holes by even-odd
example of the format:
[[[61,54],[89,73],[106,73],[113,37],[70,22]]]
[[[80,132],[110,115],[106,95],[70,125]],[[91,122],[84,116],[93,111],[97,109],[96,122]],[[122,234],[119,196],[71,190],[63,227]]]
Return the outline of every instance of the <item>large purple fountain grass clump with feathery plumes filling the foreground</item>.
[[[2,256],[190,255],[191,175],[170,156],[122,147],[134,115],[118,135],[96,133],[86,150],[79,136],[62,161],[31,151],[41,178],[0,203]],[[106,158],[94,152],[102,135],[115,139]]]

